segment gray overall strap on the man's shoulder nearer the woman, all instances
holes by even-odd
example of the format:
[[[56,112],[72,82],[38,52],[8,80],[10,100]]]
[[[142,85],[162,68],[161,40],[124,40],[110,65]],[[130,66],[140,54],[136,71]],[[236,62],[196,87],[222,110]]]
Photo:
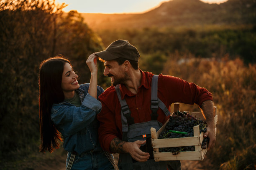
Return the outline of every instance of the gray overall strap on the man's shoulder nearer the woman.
[[[122,131],[127,132],[128,131],[128,124],[132,125],[134,124],[133,117],[131,117],[131,110],[129,109],[125,99],[122,100],[121,93],[119,89],[119,85],[115,86],[115,91],[118,95],[118,99],[121,105],[121,120],[122,120]]]

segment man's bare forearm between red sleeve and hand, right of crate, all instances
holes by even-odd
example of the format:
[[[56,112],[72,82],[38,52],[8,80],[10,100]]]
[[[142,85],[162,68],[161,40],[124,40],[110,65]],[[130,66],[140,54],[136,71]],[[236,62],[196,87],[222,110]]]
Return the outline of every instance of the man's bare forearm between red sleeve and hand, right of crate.
[[[215,126],[214,125],[214,106],[212,100],[206,100],[202,102],[201,105],[202,113],[205,116],[208,126]]]

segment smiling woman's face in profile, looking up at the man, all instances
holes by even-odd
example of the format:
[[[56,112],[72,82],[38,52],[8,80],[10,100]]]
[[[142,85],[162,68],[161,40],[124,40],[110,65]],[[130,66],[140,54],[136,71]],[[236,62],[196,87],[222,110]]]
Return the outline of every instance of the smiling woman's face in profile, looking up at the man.
[[[64,70],[62,73],[62,80],[61,80],[61,88],[65,93],[72,92],[79,88],[79,84],[77,82],[77,74],[73,71],[71,65],[66,62],[64,64]]]

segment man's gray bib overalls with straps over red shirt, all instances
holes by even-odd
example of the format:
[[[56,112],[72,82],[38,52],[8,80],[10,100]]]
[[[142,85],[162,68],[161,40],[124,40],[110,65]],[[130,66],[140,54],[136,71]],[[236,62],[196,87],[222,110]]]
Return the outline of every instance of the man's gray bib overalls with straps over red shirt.
[[[146,144],[141,145],[140,149],[143,152],[150,154],[149,159],[146,162],[137,162],[129,153],[120,153],[118,159],[118,168],[120,170],[180,170],[180,161],[154,161],[153,147],[151,145],[151,132],[150,128],[153,127],[158,131],[162,124],[157,121],[157,110],[160,107],[166,116],[170,115],[169,110],[164,103],[157,97],[158,75],[154,75],[152,78],[151,87],[151,121],[134,123],[133,117],[131,117],[131,111],[125,101],[121,99],[119,85],[115,86],[115,90],[118,95],[118,99],[121,104],[121,120],[123,141],[134,142],[136,140],[146,140]],[[146,135],[146,137],[145,137]]]

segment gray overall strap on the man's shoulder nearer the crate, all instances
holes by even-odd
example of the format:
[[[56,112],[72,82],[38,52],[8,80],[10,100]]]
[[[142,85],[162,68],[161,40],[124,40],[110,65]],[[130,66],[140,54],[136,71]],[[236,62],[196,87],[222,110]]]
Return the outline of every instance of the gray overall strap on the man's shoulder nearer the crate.
[[[158,98],[157,98],[157,89],[158,89],[158,75],[152,77],[152,86],[151,86],[151,105],[150,109],[152,110],[151,120],[157,120],[157,110],[158,110]]]

